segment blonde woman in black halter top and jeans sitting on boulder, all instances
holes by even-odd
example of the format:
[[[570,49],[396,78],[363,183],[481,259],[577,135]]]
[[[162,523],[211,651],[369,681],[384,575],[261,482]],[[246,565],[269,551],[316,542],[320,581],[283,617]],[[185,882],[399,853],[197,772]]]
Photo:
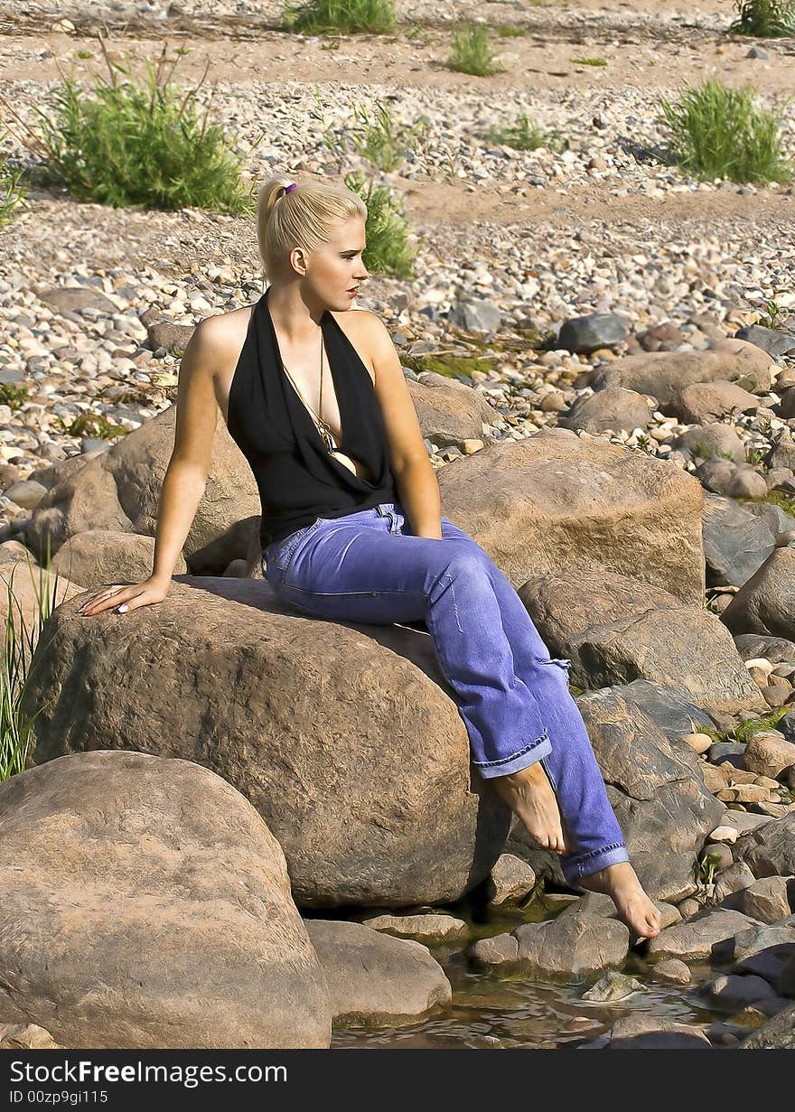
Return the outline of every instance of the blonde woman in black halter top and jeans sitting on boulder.
[[[425,620],[474,766],[538,845],[562,855],[569,884],[607,893],[638,936],[654,937],[659,912],[629,864],[569,662],[549,657],[508,579],[441,516],[389,334],[375,314],[348,311],[369,277],[366,219],[345,187],[274,177],[261,188],[270,286],[255,306],[202,320],[185,351],[153,573],[100,588],[80,613],[166,597],[220,408],[257,479],[262,570],[277,596],[330,620]]]

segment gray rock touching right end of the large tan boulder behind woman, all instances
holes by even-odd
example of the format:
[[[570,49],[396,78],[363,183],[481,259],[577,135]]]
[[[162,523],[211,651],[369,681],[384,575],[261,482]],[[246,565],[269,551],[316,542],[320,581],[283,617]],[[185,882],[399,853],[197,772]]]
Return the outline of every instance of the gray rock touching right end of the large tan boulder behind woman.
[[[704,556],[707,586],[742,586],[775,547],[775,534],[731,498],[704,494]]]

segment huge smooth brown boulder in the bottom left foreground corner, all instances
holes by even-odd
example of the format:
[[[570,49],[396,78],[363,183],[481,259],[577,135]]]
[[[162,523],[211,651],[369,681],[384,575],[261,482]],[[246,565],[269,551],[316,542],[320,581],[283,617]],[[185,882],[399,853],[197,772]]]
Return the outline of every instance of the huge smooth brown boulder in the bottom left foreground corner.
[[[97,752],[19,773],[0,862],[0,1022],[72,1048],[329,1045],[279,844],[198,764]]]

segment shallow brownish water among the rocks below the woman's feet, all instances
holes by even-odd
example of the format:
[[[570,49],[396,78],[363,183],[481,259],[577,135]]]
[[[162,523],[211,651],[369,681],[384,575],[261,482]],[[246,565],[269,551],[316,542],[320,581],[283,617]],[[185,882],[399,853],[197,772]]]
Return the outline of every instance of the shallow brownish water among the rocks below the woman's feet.
[[[448,911],[456,917],[464,919],[474,937],[499,934],[514,930],[519,923],[554,917],[538,902],[524,911],[489,909],[484,917],[476,916],[480,921],[473,919],[470,909],[460,906],[435,907],[433,911]],[[394,910],[394,913],[409,912],[403,909]],[[372,914],[374,909],[369,909],[360,917],[366,919]],[[471,941],[474,940],[429,947],[453,986],[453,1002],[446,1012],[437,1012],[416,1023],[400,1026],[337,1025],[332,1031],[331,1049],[576,1048],[585,1046],[609,1032],[619,1019],[635,1013],[650,1013],[655,1017],[697,1025],[728,1020],[725,1012],[705,1009],[693,994],[699,983],[718,972],[725,972],[724,965],[689,964],[693,977],[690,984],[670,985],[656,980],[650,973],[652,966],[633,951],[622,972],[636,977],[647,991],[636,991],[619,1001],[597,1003],[583,1000],[583,994],[603,974],[580,984],[557,985],[534,981],[516,971],[508,973],[485,969],[465,953]]]

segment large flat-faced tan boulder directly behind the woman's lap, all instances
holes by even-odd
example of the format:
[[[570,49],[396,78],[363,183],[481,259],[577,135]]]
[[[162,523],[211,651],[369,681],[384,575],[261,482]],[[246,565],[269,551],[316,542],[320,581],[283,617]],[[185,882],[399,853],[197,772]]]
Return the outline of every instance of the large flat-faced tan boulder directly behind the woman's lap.
[[[438,479],[446,516],[515,586],[604,568],[703,602],[703,492],[675,464],[554,428],[463,457]]]

